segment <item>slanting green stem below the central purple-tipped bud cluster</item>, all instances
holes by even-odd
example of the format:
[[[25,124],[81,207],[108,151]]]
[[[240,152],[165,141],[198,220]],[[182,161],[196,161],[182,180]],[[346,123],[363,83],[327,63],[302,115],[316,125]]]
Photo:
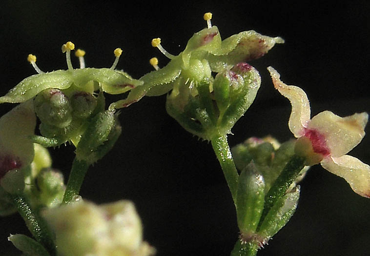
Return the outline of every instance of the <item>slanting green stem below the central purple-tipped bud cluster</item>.
[[[230,147],[227,143],[227,136],[215,136],[214,138],[212,138],[211,143],[216,157],[220,161],[221,168],[224,172],[224,176],[230,189],[232,199],[236,204],[239,175],[238,171],[236,170],[234,160],[232,159]]]

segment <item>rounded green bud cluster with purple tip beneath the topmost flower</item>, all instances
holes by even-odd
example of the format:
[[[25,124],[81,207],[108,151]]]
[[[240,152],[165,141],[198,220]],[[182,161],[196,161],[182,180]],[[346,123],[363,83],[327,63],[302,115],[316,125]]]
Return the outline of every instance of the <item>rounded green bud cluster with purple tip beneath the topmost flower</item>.
[[[247,63],[238,63],[190,87],[177,79],[167,97],[166,109],[190,133],[211,140],[231,133],[235,122],[244,115],[259,89],[261,78]]]

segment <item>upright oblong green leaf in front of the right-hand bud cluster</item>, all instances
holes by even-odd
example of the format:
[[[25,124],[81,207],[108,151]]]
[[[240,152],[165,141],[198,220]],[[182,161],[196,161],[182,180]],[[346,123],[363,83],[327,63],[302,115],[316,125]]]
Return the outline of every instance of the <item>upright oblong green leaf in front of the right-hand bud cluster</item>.
[[[238,226],[242,234],[254,234],[265,203],[265,181],[253,161],[239,176],[236,197]]]

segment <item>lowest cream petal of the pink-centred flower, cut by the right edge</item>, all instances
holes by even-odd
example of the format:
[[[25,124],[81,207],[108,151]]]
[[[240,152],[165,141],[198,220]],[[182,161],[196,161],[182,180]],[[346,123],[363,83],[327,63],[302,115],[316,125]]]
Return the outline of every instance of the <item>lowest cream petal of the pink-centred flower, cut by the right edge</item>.
[[[362,197],[370,198],[369,165],[348,155],[339,158],[324,158],[321,165],[330,173],[347,180],[354,192]]]

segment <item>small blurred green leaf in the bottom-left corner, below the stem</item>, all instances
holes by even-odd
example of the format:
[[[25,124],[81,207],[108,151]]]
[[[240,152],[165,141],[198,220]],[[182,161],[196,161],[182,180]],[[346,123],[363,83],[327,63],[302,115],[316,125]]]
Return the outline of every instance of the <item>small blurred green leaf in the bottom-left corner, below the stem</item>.
[[[8,240],[11,241],[18,250],[21,250],[24,256],[50,256],[46,249],[31,237],[17,234],[10,235]]]

